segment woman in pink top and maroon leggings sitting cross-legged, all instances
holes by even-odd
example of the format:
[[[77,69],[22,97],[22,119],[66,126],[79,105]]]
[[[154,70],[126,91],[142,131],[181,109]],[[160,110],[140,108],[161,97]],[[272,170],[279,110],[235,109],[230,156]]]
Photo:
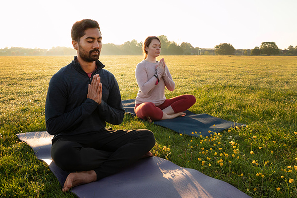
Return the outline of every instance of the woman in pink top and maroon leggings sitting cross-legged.
[[[144,60],[137,64],[135,77],[139,91],[135,101],[136,115],[145,120],[165,120],[185,116],[183,111],[190,108],[196,99],[193,95],[181,95],[171,99],[165,97],[165,86],[173,91],[172,80],[164,58],[159,62],[156,57],[161,52],[158,37],[146,38],[143,47]]]

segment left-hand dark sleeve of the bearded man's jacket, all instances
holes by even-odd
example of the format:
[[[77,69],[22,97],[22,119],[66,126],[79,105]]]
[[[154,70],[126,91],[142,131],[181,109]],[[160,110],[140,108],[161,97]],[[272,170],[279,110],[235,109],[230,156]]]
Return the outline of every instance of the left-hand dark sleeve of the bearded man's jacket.
[[[67,86],[59,76],[54,75],[49,82],[45,106],[46,127],[51,135],[71,131],[98,106],[94,100],[86,99],[81,105],[65,112],[67,98]]]

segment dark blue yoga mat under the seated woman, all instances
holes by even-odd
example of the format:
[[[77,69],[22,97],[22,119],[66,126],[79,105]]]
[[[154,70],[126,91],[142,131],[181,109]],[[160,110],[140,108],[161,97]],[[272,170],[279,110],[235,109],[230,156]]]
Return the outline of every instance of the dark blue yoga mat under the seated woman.
[[[134,112],[135,99],[123,100],[122,103],[127,113],[131,113],[134,116],[136,115]],[[171,120],[159,120],[153,123],[190,136],[197,136],[197,134],[209,136],[214,132],[218,133],[231,127],[246,126],[245,124],[223,120],[205,113],[194,114],[191,111],[184,112],[186,113],[184,117],[177,117]],[[209,133],[209,131],[211,132]],[[194,132],[194,134],[192,134],[192,132]]]

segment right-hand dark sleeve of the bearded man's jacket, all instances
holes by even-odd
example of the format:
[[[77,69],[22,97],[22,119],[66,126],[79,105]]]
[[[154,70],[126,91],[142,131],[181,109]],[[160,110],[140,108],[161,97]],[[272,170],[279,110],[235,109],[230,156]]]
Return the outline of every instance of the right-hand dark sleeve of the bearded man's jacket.
[[[125,110],[118,83],[112,74],[107,101],[102,99],[101,104],[97,106],[97,110],[100,118],[110,124],[118,125],[123,122]]]

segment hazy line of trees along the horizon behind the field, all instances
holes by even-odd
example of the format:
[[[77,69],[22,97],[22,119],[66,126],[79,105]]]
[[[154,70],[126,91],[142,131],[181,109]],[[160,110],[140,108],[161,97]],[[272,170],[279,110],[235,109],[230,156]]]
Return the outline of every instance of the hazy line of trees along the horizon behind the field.
[[[158,36],[162,55],[297,55],[297,46],[289,46],[281,50],[275,42],[263,42],[260,47],[254,49],[235,49],[231,44],[221,43],[211,48],[193,47],[190,43],[183,42],[180,45],[169,41],[167,36]],[[143,42],[136,40],[126,41],[122,45],[112,43],[103,44],[101,55],[142,55]],[[76,50],[69,47],[52,47],[51,49],[30,49],[11,47],[0,49],[0,56],[58,56],[76,55]]]

